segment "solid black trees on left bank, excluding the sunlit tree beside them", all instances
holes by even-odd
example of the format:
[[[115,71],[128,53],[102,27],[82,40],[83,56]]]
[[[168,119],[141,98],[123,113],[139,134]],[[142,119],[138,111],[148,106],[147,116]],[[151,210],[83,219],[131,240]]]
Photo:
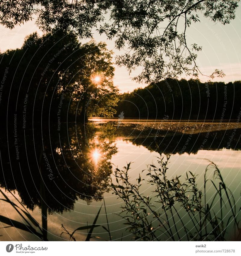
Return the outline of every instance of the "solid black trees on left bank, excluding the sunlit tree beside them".
[[[0,54],[0,71],[3,73],[8,67],[5,81],[5,97],[1,108],[8,106],[8,115],[17,111],[23,115],[26,105],[28,124],[32,120],[40,121],[41,116],[48,122],[57,120],[57,106],[63,90],[66,95],[73,92],[75,80],[72,79],[80,65],[78,62],[82,50],[77,37],[73,33],[47,33],[39,36],[33,33],[27,36],[20,49],[7,50]],[[28,95],[27,103],[25,97]],[[11,99],[11,103],[8,101]],[[64,119],[62,107],[62,119]],[[3,110],[3,109],[2,109]],[[55,112],[55,113],[53,113]],[[7,113],[7,111],[2,111]],[[52,119],[55,114],[55,119]]]

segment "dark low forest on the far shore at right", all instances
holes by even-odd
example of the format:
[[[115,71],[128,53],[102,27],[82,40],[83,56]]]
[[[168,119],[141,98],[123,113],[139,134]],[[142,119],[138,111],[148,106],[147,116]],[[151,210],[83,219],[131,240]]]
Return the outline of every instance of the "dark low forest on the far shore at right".
[[[120,95],[116,116],[158,119],[236,119],[241,81],[166,79]],[[124,112],[124,113],[123,113]]]

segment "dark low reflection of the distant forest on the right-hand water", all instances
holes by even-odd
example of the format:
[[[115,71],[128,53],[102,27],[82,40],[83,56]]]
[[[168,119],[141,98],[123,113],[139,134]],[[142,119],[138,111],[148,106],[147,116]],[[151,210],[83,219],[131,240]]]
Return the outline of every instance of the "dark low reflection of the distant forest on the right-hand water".
[[[210,127],[211,127],[210,123]],[[158,134],[158,136],[156,136]],[[241,129],[183,133],[164,129],[141,129],[136,124],[123,124],[118,136],[134,145],[146,147],[150,151],[164,154],[196,154],[199,150],[220,150],[223,148],[241,150]]]

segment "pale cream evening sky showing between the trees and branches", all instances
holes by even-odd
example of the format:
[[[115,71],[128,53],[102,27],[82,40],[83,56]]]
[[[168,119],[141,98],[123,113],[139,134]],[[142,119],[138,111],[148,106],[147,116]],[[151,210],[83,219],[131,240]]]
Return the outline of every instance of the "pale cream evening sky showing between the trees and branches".
[[[13,30],[0,25],[0,50],[20,48],[25,36],[37,31],[41,35],[34,21],[29,21]],[[197,43],[202,46],[199,52],[197,64],[203,74],[210,75],[217,68],[226,74],[223,78],[216,78],[214,81],[233,82],[241,80],[241,6],[236,11],[236,18],[230,24],[222,25],[214,23],[206,18],[201,18],[200,23],[193,24],[186,32],[189,44]],[[118,51],[114,48],[114,41],[107,40],[104,35],[94,34],[95,40],[105,41],[107,47],[114,51],[114,56]],[[84,42],[83,42],[84,43]],[[138,75],[141,68],[128,73],[125,67],[115,66],[114,84],[119,87],[120,92],[133,91],[137,87],[145,87],[146,84],[138,84],[132,81],[132,77]],[[185,78],[185,76],[183,75]],[[187,78],[187,77],[186,77]],[[200,76],[201,81],[208,78]]]

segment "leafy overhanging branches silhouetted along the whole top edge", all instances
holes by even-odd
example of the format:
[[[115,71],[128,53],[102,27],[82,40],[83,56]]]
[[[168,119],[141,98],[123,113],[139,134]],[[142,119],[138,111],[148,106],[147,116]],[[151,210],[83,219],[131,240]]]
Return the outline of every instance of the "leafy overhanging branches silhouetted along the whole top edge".
[[[191,24],[199,16],[227,24],[235,18],[239,0],[60,0],[0,3],[0,24],[13,28],[37,16],[44,31],[66,29],[91,37],[93,27],[115,39],[117,49],[127,49],[117,64],[131,72],[143,66],[136,81],[160,81],[182,73],[197,76],[197,52],[202,47],[186,40]],[[110,19],[109,19],[110,18]],[[223,76],[215,70],[211,78]]]

